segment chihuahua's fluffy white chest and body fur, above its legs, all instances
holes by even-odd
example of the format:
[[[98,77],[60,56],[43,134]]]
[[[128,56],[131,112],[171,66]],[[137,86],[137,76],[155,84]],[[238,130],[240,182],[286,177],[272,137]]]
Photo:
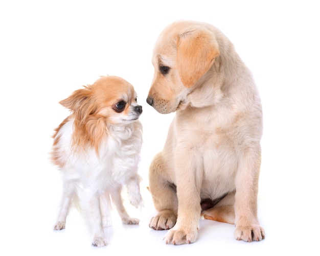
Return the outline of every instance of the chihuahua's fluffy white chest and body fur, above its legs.
[[[57,133],[61,136],[57,146],[65,165],[60,168],[63,179],[77,180],[81,187],[94,185],[103,193],[110,187],[126,184],[138,169],[142,145],[142,125],[110,126],[99,146],[99,154],[93,148],[76,151],[72,146],[74,119],[70,119]]]

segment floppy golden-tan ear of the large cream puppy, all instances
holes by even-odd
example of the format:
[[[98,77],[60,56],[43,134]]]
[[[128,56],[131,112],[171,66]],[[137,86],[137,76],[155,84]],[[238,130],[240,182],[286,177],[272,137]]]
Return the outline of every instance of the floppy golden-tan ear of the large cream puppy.
[[[219,56],[218,43],[207,30],[177,36],[177,67],[182,83],[190,88]]]

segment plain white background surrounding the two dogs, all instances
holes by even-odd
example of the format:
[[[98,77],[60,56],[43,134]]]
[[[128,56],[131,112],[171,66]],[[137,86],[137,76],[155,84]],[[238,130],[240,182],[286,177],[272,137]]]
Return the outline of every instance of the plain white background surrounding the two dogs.
[[[2,1],[0,3],[0,254],[319,253],[319,7],[317,1]],[[252,70],[264,111],[259,219],[262,242],[233,238],[234,226],[200,220],[194,244],[173,246],[148,227],[154,214],[148,167],[162,150],[173,114],[147,105],[153,43],[177,19],[209,22],[228,36]],[[139,226],[113,216],[109,245],[90,246],[72,211],[55,232],[61,194],[49,162],[58,104],[101,75],[121,76],[143,106],[142,211]],[[3,252],[4,251],[4,252]],[[6,251],[6,252],[5,252]],[[36,254],[35,254],[36,255]]]

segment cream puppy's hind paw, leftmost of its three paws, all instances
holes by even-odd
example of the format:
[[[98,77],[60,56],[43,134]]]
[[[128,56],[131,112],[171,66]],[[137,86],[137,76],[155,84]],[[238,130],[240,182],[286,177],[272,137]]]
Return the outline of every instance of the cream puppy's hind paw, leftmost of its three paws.
[[[170,229],[177,221],[176,215],[169,210],[159,212],[156,216],[152,217],[149,222],[149,227],[155,230]]]

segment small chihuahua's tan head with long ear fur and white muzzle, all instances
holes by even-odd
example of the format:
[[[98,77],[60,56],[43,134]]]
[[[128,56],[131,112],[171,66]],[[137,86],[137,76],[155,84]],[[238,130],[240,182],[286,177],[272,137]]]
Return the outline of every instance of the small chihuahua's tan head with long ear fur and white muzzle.
[[[62,106],[72,111],[64,123],[74,118],[75,148],[85,148],[89,144],[98,152],[110,125],[127,125],[138,120],[142,106],[138,105],[136,97],[129,82],[120,77],[105,76],[60,101]]]

